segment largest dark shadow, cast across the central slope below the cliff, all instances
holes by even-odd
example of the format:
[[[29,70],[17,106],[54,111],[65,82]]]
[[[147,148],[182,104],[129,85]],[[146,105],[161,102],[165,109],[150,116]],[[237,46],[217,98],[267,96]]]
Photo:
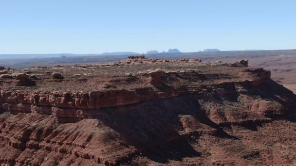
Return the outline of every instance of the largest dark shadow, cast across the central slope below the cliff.
[[[168,160],[181,161],[185,157],[201,156],[192,148],[185,136],[179,115],[190,115],[197,121],[218,129],[217,136],[234,138],[219,129],[200,109],[190,95],[150,100],[138,104],[105,108],[103,116],[96,117],[109,126],[139,153],[158,163]],[[130,159],[131,160],[131,159]]]

